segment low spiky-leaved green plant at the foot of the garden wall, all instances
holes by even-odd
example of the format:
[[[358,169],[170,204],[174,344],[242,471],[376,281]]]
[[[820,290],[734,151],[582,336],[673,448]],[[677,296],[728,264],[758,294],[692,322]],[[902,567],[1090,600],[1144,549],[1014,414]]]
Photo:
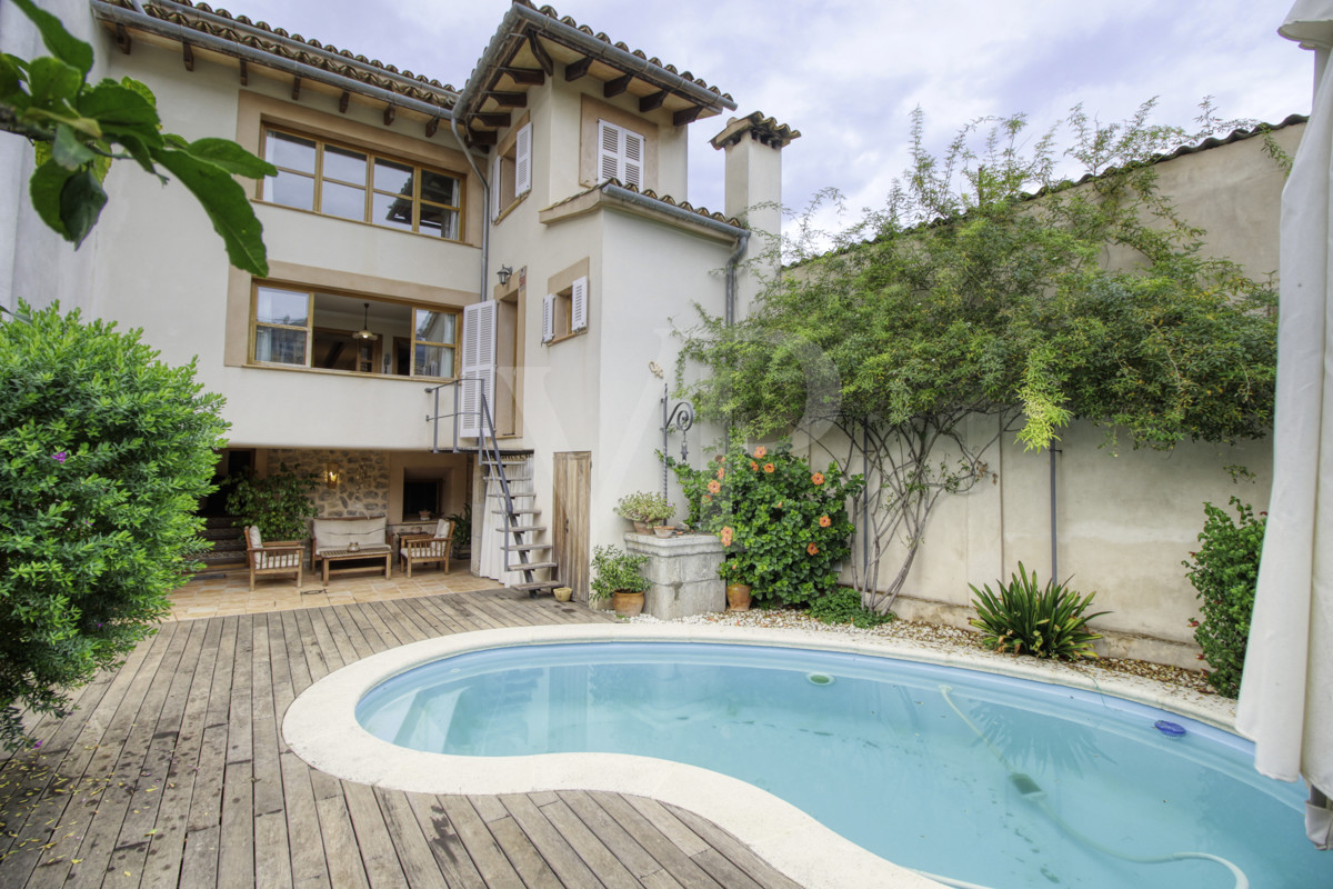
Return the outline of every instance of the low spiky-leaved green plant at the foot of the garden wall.
[[[981,642],[997,652],[1076,660],[1097,657],[1092,642],[1101,638],[1088,629],[1088,621],[1109,614],[1085,614],[1096,593],[1081,596],[1066,584],[1046,581],[1037,585],[1037,572],[1029,576],[1022,562],[1009,582],[996,581],[998,593],[974,585],[972,592],[977,618],[970,621],[981,630]]]

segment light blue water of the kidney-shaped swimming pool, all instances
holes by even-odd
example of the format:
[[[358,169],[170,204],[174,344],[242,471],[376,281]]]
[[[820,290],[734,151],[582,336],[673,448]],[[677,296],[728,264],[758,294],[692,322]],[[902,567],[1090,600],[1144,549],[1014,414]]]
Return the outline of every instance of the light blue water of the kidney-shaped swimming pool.
[[[1232,868],[1254,889],[1333,886],[1333,856],[1304,837],[1302,788],[1257,774],[1248,741],[988,673],[746,645],[535,645],[416,668],[356,717],[416,750],[702,766],[896,864],[994,889],[1230,889]],[[1190,857],[1132,861],[1176,853]]]

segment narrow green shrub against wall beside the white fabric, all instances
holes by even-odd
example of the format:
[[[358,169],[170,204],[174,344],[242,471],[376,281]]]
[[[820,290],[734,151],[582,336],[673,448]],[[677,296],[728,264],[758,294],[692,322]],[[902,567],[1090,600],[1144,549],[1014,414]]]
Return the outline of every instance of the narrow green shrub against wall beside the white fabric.
[[[1189,582],[1202,602],[1202,620],[1190,624],[1197,628],[1194,641],[1204,649],[1202,657],[1213,668],[1206,672],[1208,684],[1218,694],[1236,697],[1241,689],[1258,557],[1268,522],[1262,516],[1256,518],[1254,509],[1237,497],[1230,498],[1230,505],[1240,514],[1238,522],[1220,506],[1204,504],[1206,520],[1198,534],[1204,545],[1190,553],[1193,562],[1181,564],[1189,569]]]

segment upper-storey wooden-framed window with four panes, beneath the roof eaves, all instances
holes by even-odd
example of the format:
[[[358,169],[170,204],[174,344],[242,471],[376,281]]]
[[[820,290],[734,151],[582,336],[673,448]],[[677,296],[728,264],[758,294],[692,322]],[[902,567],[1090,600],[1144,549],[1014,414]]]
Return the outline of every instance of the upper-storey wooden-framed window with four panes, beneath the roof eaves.
[[[264,128],[264,157],[277,167],[263,200],[404,232],[460,240],[463,177],[353,145]]]

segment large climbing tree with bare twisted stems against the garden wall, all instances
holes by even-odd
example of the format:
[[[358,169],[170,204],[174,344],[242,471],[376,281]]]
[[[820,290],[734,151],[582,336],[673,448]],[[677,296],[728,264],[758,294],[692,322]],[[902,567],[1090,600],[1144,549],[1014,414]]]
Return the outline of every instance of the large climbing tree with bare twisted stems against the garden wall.
[[[989,121],[976,151],[968,127],[936,159],[918,112],[884,211],[822,240],[808,216],[788,245],[801,261],[749,317],[700,309],[682,333],[681,369],[708,371],[682,387],[701,416],[801,431],[864,476],[872,552],[853,574],[873,605],[892,606],[940,498],[989,477],[1001,436],[1045,448],[1074,419],[1136,448],[1268,432],[1276,295],[1205,257],[1160,193],[1152,156],[1198,135],[1149,125],[1150,109],[1110,127],[1074,111],[1064,156],[1096,173],[1080,185],[1054,180],[1053,133],[1022,147],[1021,117]]]

